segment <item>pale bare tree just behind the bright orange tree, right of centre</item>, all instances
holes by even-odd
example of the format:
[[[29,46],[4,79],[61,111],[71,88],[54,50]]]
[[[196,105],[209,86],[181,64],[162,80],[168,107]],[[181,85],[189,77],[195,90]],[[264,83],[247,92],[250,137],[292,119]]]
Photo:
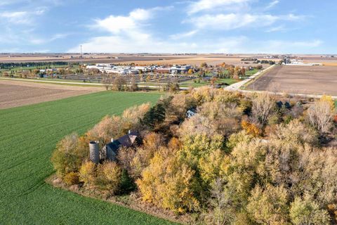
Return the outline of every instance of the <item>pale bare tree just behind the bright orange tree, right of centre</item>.
[[[275,108],[275,99],[267,92],[258,94],[253,99],[253,116],[262,124],[267,124],[267,120],[272,115]]]

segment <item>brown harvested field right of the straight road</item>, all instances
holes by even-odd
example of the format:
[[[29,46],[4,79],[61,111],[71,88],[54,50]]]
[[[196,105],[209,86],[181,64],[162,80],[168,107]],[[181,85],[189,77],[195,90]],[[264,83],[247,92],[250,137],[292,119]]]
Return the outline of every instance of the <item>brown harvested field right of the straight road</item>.
[[[337,67],[277,66],[249,84],[248,89],[337,96]]]

